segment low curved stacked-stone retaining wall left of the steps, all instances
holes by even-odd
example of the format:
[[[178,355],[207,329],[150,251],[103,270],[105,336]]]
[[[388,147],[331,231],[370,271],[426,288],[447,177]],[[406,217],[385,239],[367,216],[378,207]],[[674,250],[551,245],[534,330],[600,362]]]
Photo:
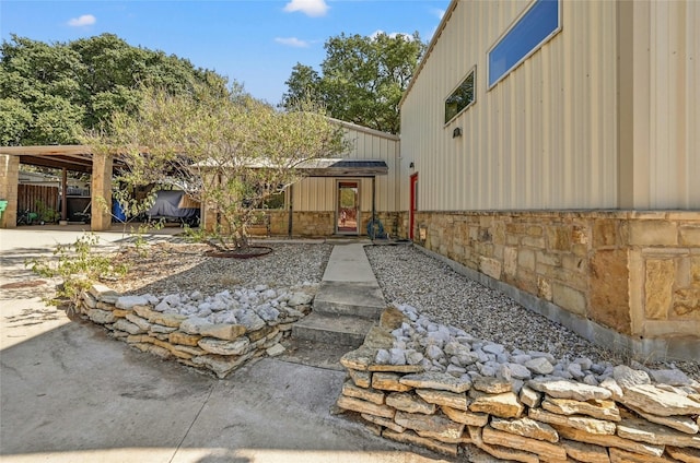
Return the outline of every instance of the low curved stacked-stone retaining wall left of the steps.
[[[313,297],[284,310],[281,319],[258,319],[250,327],[163,313],[151,305],[135,304],[139,299],[93,285],[82,294],[77,309],[84,319],[107,329],[110,336],[141,352],[225,378],[252,358],[282,354],[284,347],[279,342],[291,334],[295,321],[311,311]]]

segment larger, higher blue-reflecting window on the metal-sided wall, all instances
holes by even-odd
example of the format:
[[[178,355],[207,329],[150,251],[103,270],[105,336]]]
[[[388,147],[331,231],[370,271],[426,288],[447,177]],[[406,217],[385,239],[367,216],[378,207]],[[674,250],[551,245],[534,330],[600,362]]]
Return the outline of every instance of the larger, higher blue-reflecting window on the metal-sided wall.
[[[560,0],[535,0],[489,50],[489,88],[560,29]]]

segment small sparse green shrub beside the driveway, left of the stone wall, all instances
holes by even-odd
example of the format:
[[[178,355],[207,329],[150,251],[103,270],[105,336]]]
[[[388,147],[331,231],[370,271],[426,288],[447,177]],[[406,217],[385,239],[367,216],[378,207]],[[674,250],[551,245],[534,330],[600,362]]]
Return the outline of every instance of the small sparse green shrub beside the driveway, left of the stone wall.
[[[109,256],[93,250],[98,240],[96,235],[85,234],[73,245],[58,245],[54,250],[54,260],[34,259],[26,262],[32,272],[39,276],[62,280],[57,297],[49,304],[58,306],[68,300],[74,307],[81,293],[102,278],[126,275],[128,268],[125,264],[115,265]]]

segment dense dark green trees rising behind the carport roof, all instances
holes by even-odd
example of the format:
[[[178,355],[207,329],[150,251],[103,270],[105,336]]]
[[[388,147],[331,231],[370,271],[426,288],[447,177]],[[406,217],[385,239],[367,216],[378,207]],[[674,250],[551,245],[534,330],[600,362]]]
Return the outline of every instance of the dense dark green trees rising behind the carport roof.
[[[55,44],[12,35],[0,46],[0,144],[78,143],[113,112],[133,112],[144,83],[174,93],[226,86],[213,71],[113,34]]]

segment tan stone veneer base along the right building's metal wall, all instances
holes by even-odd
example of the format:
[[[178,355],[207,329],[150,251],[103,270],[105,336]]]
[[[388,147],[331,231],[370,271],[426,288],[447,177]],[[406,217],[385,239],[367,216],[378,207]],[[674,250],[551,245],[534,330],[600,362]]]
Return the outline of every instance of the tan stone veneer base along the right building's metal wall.
[[[415,224],[424,249],[592,342],[700,358],[700,212],[418,212]]]

